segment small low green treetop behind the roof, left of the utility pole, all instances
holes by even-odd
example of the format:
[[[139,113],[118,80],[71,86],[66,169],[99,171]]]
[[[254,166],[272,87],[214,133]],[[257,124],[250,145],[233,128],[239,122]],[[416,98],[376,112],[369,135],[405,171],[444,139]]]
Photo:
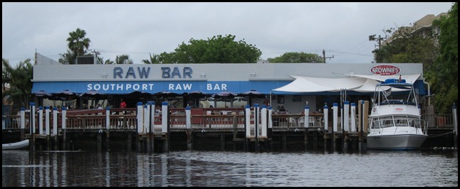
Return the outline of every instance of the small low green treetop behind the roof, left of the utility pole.
[[[324,63],[323,58],[311,53],[284,53],[276,58],[268,58],[269,63]]]

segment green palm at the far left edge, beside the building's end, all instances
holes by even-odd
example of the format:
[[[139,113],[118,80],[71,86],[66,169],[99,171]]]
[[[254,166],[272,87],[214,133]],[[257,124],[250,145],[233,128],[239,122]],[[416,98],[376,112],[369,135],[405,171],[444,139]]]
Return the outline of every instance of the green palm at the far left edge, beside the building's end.
[[[11,67],[9,60],[1,59],[1,86],[4,92],[1,97],[13,103],[14,111],[28,106],[31,98],[33,66],[31,59],[19,62],[16,68]],[[9,88],[8,90],[6,88]]]

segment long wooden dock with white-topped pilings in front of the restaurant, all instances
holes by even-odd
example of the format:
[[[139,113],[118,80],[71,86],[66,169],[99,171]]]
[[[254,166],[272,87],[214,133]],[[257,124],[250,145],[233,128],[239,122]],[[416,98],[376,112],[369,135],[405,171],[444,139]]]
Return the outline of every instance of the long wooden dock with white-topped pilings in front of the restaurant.
[[[212,113],[224,111],[228,113]],[[266,107],[166,108],[164,112],[155,112],[155,108],[138,107],[69,111],[63,109],[61,112],[57,109],[45,109],[34,113],[36,112],[23,111],[19,116],[9,117],[9,127],[3,129],[2,134],[4,143],[31,139],[31,150],[64,151],[365,150],[366,134],[360,132],[360,121],[356,121],[356,125],[345,126],[347,131],[333,120],[328,121],[328,126],[325,127],[325,117],[318,112],[308,112],[309,116],[305,117],[305,114],[273,114]],[[254,114],[258,116],[255,117]],[[303,120],[309,121],[305,124]],[[334,123],[337,126],[333,126]],[[454,140],[452,129],[453,126],[437,126],[429,128],[428,133],[447,133],[441,140],[446,141],[443,145],[449,146],[456,142],[451,143]]]

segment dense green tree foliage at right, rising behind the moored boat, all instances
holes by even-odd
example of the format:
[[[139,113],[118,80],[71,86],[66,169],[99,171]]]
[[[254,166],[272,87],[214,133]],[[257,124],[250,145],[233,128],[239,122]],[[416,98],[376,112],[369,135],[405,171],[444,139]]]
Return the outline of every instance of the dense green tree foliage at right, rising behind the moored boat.
[[[377,63],[422,63],[424,77],[434,94],[436,112],[446,114],[452,104],[458,104],[458,3],[448,16],[441,16],[432,26],[439,26],[440,34],[414,32],[414,27],[390,28],[385,38],[369,36],[370,41],[382,41],[375,53]],[[380,44],[380,43],[379,43]]]

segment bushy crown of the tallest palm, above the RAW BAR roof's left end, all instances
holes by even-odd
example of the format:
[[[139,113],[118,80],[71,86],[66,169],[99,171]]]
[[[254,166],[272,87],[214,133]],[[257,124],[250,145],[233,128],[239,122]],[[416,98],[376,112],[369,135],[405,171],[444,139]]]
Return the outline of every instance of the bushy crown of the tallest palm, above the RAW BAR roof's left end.
[[[68,33],[70,37],[67,38],[68,48],[74,55],[85,55],[86,50],[90,47],[90,39],[85,38],[86,31],[80,28]]]

